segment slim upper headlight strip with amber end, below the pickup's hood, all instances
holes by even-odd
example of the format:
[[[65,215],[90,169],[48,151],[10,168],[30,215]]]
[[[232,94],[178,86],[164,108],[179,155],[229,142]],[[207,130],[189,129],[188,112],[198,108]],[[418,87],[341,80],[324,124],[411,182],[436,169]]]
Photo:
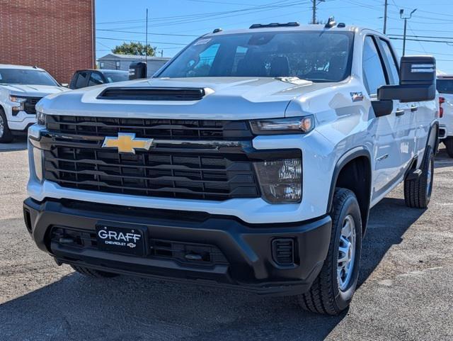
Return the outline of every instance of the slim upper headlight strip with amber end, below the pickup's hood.
[[[256,135],[306,134],[314,129],[314,116],[269,118],[250,121]]]

